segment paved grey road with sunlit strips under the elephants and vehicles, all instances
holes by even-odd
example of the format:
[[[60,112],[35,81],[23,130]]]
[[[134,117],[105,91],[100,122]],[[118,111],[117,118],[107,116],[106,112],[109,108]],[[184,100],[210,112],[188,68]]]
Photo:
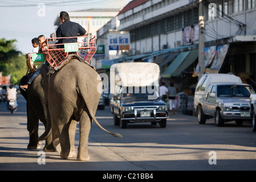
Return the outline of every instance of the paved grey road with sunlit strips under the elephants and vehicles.
[[[256,170],[256,133],[250,122],[217,127],[213,119],[199,125],[196,117],[176,113],[165,129],[149,123],[113,126],[109,107],[96,118],[105,129],[120,133],[115,138],[92,124],[89,139],[90,162],[60,159],[58,152],[27,150],[26,102],[18,97],[18,110],[11,114],[0,104],[0,170],[90,170],[90,171],[222,171]],[[40,123],[39,133],[43,133]],[[76,131],[76,148],[78,133]],[[42,148],[42,147],[41,147]],[[210,152],[210,154],[209,154]],[[215,158],[216,157],[216,158]],[[210,159],[210,160],[209,160]],[[209,164],[213,163],[213,164]],[[101,176],[100,176],[101,177]],[[131,176],[130,176],[131,177]]]

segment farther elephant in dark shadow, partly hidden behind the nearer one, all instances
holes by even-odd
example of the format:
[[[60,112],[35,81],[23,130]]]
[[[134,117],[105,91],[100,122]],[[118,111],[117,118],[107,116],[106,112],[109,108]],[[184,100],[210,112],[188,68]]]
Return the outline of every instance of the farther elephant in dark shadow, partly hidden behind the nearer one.
[[[30,73],[29,73],[30,74]],[[27,101],[27,130],[29,131],[29,144],[27,145],[28,149],[39,149],[40,144],[38,144],[38,127],[39,120],[43,123],[44,127],[47,127],[47,110],[44,102],[44,92],[40,86],[42,76],[38,76],[31,83],[28,90],[22,90],[21,94]],[[29,75],[23,76],[20,85],[25,85],[29,80]],[[49,131],[50,132],[50,131]],[[44,137],[44,136],[41,136]],[[52,136],[48,135],[45,137],[46,144],[43,147],[44,151],[55,151],[55,148],[52,144]]]

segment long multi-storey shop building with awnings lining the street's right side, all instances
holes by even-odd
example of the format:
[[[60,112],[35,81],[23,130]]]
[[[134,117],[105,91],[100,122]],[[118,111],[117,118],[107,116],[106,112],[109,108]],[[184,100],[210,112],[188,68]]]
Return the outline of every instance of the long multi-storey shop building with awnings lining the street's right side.
[[[195,0],[129,2],[117,14],[119,26],[115,28],[129,32],[129,50],[107,60],[153,61],[160,65],[162,78],[178,83],[186,80],[183,87],[189,88],[198,72],[198,33],[203,31],[205,71],[232,72],[243,81],[251,75],[255,80],[256,2],[202,1],[203,30],[198,8]],[[174,63],[178,64],[176,71]]]

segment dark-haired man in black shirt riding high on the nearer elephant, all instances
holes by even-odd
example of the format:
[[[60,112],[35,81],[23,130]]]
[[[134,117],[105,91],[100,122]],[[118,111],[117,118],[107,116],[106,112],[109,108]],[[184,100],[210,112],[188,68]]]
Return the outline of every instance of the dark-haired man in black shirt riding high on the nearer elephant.
[[[57,38],[78,36],[79,34],[86,35],[86,30],[80,24],[70,21],[70,16],[66,11],[60,12],[59,18],[62,24],[59,25],[56,31]],[[77,38],[58,39],[58,44],[74,42],[77,42]]]

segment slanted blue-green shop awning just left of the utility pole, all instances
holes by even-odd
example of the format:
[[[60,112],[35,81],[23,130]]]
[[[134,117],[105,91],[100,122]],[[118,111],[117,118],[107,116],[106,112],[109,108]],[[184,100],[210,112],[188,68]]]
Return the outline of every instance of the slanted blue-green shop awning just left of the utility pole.
[[[170,78],[181,76],[181,73],[188,68],[198,57],[198,49],[180,52],[176,59],[162,72],[161,77]]]

